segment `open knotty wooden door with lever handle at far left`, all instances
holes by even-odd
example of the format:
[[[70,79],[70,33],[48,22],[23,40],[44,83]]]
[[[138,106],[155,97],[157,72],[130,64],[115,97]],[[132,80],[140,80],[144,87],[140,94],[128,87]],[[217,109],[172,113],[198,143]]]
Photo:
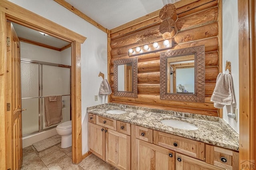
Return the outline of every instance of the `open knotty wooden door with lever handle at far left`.
[[[21,81],[20,81],[20,42],[12,26],[7,22],[7,84],[6,101],[8,121],[7,134],[11,135],[7,139],[7,149],[9,162],[13,170],[22,166],[22,107],[21,107]],[[11,154],[10,154],[11,150]]]

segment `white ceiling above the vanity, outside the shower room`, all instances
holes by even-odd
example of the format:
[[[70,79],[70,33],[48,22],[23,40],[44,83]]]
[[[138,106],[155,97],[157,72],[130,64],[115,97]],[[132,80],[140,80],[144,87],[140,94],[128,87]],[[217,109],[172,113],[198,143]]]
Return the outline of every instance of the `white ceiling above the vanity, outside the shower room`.
[[[65,0],[92,20],[112,29],[179,0]]]

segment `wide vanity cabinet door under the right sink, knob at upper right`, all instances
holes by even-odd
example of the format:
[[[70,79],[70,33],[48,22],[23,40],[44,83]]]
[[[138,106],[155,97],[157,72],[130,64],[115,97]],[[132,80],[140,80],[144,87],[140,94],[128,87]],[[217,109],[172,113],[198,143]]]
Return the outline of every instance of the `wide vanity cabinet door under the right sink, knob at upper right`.
[[[175,152],[136,139],[138,170],[174,170]]]

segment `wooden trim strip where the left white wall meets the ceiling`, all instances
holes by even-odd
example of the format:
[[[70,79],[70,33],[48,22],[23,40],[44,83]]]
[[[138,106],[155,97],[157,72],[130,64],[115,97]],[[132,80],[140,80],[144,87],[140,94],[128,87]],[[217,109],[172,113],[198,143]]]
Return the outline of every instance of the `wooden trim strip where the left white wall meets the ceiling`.
[[[96,21],[92,20],[92,18],[86,16],[84,13],[82,13],[81,11],[76,9],[74,6],[70,5],[68,2],[66,2],[64,0],[54,0],[54,1],[57,2],[58,4],[60,4],[61,6],[63,6],[64,8],[70,10],[71,12],[73,12],[74,14],[79,16],[80,18],[82,18],[82,19],[86,20],[87,22],[91,23],[92,25],[94,25],[98,29],[100,29],[103,32],[107,33],[107,30],[106,30],[105,27],[103,27],[102,25],[100,25]]]

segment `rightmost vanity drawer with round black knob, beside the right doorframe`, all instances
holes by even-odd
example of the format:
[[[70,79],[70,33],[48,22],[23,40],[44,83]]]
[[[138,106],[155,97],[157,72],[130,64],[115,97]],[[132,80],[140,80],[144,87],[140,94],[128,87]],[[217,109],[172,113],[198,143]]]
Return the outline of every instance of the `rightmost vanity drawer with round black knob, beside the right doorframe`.
[[[228,170],[237,170],[239,154],[233,150],[205,145],[205,162]]]

